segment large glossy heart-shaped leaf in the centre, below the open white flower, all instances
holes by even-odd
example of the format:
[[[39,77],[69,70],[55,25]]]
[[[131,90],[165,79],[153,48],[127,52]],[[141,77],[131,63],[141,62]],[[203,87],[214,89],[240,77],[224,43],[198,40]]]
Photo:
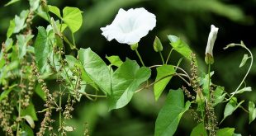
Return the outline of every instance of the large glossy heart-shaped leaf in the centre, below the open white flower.
[[[107,97],[109,110],[126,106],[136,89],[150,77],[150,69],[126,59],[111,77],[111,94]]]

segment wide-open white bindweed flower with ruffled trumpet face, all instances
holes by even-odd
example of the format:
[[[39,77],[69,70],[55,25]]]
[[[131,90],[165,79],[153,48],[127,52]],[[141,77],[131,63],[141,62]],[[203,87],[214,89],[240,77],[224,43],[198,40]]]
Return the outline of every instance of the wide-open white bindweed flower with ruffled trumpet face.
[[[130,8],[128,11],[122,8],[118,11],[111,25],[102,27],[102,35],[107,40],[117,40],[121,44],[134,45],[142,37],[153,30],[156,24],[154,14],[145,10],[145,8]]]

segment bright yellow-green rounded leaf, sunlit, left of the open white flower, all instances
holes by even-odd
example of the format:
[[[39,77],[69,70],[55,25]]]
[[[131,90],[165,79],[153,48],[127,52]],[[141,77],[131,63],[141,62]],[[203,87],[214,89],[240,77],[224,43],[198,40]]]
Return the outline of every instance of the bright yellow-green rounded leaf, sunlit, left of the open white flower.
[[[63,21],[69,26],[69,29],[74,33],[82,26],[82,12],[77,7],[64,7]]]

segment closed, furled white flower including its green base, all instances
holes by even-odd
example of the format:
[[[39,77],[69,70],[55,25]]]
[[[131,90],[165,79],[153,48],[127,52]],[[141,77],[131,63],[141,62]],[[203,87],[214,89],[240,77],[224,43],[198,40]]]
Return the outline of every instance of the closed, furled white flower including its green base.
[[[218,33],[219,28],[211,25],[211,31],[210,34],[208,36],[208,41],[207,41],[207,46],[206,46],[206,58],[205,61],[207,64],[212,64],[214,63],[214,58],[213,58],[213,54],[212,54],[212,49],[217,37],[217,33]]]

